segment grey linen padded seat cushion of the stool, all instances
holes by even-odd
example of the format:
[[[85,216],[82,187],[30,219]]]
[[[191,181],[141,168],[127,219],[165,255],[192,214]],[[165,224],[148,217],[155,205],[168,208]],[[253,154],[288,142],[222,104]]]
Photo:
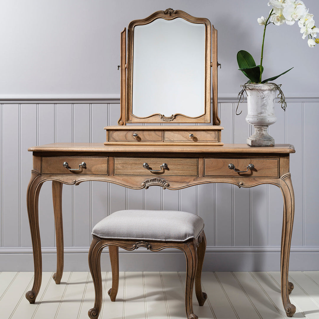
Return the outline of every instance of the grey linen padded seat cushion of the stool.
[[[185,211],[123,210],[102,219],[92,234],[103,239],[186,241],[197,239],[204,221]]]

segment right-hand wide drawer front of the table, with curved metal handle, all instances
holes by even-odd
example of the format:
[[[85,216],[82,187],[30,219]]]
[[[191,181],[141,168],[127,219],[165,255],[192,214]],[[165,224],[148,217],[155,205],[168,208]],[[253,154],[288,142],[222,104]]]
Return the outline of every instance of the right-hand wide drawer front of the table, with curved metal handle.
[[[249,164],[254,168],[238,173],[230,169],[229,164],[233,164],[236,171],[246,171]],[[279,159],[205,158],[204,176],[279,177]]]

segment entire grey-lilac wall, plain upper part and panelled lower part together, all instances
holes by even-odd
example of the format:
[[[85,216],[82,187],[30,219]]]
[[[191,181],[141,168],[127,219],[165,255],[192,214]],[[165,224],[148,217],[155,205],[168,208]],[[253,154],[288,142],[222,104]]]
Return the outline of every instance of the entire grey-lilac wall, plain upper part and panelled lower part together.
[[[32,168],[27,148],[53,142],[99,142],[103,127],[119,117],[120,32],[133,19],[168,7],[207,17],[218,30],[219,112],[224,143],[245,143],[251,128],[243,113],[234,115],[240,84],[236,53],[248,50],[258,61],[268,1],[2,1],[0,19],[1,229],[0,270],[32,270],[26,187]],[[319,3],[305,1],[319,19]],[[269,26],[264,51],[265,76],[294,66],[277,80],[288,101],[270,128],[276,143],[291,143],[291,173],[296,215],[290,268],[319,270],[317,235],[319,115],[317,50],[308,48],[299,27]],[[98,98],[99,100],[95,100]],[[51,184],[40,194],[44,270],[54,269],[54,219]],[[87,270],[92,226],[118,209],[181,209],[204,218],[205,270],[278,270],[282,197],[272,185],[238,189],[200,185],[179,191],[157,187],[130,190],[102,182],[64,186],[65,269]],[[105,254],[106,255],[106,254]],[[107,256],[104,256],[105,258]],[[134,262],[134,263],[133,263]],[[121,253],[122,269],[179,270],[184,257]],[[109,267],[104,264],[105,269]]]

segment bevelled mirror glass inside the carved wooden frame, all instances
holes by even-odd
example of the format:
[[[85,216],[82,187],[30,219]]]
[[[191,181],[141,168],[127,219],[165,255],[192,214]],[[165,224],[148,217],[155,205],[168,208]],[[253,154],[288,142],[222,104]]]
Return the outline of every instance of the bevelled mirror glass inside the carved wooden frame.
[[[205,24],[156,19],[134,27],[132,114],[205,113]]]

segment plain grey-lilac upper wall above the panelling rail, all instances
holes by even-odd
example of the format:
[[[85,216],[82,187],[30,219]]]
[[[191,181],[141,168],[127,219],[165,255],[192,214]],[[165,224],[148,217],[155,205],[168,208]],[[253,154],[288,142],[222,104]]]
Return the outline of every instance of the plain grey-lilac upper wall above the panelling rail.
[[[237,51],[249,51],[259,64],[267,0],[2,0],[1,95],[102,95],[120,93],[120,32],[134,19],[168,7],[207,17],[218,30],[219,93],[238,93],[245,77]],[[316,0],[305,1],[317,16]],[[287,96],[312,96],[319,80],[318,46],[308,48],[297,23],[267,27],[266,78],[278,75]],[[279,82],[278,82],[279,83]]]

